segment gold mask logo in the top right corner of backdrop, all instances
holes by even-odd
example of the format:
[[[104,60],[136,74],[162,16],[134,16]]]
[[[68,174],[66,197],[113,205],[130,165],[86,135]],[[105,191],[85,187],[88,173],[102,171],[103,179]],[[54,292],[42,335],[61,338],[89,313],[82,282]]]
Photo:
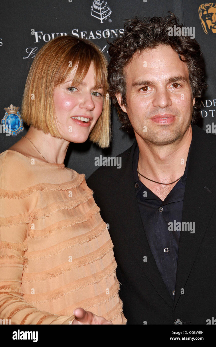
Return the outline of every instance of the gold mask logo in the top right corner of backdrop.
[[[207,35],[216,34],[216,3],[202,3],[199,7],[199,19]]]

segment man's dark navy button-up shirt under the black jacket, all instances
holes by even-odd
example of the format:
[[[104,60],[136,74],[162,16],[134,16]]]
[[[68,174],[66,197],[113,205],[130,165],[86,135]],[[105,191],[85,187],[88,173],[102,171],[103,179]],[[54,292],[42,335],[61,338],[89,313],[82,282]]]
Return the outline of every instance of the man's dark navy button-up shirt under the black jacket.
[[[158,270],[161,273],[162,279],[173,299],[175,295],[180,231],[169,231],[168,223],[173,222],[173,225],[175,225],[175,223],[182,221],[183,198],[188,172],[190,149],[191,145],[188,152],[184,175],[175,184],[164,201],[162,201],[139,180],[137,172],[139,160],[138,145],[133,154],[133,178],[142,223]]]

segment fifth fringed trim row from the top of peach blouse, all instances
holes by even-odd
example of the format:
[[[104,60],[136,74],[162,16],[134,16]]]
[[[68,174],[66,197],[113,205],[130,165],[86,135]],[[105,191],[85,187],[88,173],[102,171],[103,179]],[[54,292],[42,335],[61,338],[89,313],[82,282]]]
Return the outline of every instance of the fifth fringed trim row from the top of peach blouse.
[[[34,273],[23,273],[22,281],[23,282],[39,282],[45,281],[47,279],[51,279],[54,277],[60,276],[62,273],[70,271],[71,269],[80,268],[81,266],[85,266],[87,264],[94,263],[98,259],[103,258],[106,254],[110,253],[113,250],[113,243],[111,238],[96,251],[82,256],[80,258],[76,258],[72,260],[72,262],[66,262],[59,266],[56,266],[53,269],[49,269],[42,272],[34,272]]]

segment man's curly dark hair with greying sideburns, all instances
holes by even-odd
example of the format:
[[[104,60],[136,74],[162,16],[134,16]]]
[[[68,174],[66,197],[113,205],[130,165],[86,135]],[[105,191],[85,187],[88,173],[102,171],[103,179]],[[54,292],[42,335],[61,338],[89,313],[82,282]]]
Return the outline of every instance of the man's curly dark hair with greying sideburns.
[[[205,63],[200,50],[200,45],[190,36],[169,36],[169,28],[182,27],[179,19],[170,12],[166,17],[137,18],[127,20],[124,24],[124,34],[119,35],[113,43],[110,43],[109,54],[111,60],[108,65],[108,83],[110,96],[118,111],[119,121],[129,133],[133,132],[127,113],[123,112],[115,97],[116,93],[122,96],[122,104],[127,107],[126,101],[126,76],[124,68],[129,64],[133,54],[145,49],[152,49],[161,44],[170,45],[178,53],[179,58],[185,61],[189,70],[189,81],[196,98],[193,106],[192,122],[199,118],[200,101],[202,92],[207,88],[205,79]],[[183,59],[181,58],[181,55]],[[120,129],[121,129],[120,128]]]

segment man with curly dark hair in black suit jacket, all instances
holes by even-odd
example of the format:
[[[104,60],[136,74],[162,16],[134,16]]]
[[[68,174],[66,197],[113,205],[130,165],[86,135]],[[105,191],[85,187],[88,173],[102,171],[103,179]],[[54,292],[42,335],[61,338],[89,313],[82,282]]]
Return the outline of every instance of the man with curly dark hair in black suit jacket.
[[[128,324],[216,318],[216,137],[195,125],[206,88],[200,46],[166,18],[133,19],[109,49],[122,128],[121,169],[87,180],[109,224]]]

